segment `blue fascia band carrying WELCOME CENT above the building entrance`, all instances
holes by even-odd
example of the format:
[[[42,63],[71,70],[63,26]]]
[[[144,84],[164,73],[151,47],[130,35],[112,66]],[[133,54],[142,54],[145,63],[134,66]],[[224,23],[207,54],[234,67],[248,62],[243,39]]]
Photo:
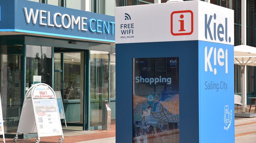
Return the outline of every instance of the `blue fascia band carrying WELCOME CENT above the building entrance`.
[[[1,15],[0,31],[115,42],[114,16],[27,0],[1,1],[0,6],[9,14]]]

